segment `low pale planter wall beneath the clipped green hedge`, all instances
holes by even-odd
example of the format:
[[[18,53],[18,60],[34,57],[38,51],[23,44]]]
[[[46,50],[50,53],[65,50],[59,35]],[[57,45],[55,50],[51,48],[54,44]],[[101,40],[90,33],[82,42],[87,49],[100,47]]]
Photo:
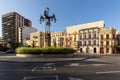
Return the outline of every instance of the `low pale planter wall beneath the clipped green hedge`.
[[[72,54],[16,54],[17,57],[33,57],[33,58],[70,58]]]

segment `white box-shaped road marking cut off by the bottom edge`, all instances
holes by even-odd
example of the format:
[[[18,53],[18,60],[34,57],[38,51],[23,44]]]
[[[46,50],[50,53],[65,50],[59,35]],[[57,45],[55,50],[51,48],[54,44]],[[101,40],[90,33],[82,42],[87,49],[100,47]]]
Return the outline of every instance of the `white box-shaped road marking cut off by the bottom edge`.
[[[54,76],[31,76],[31,77],[24,77],[23,80],[35,80],[35,79],[40,79],[40,80],[48,80],[49,78],[53,78],[52,80],[59,80],[57,75]]]

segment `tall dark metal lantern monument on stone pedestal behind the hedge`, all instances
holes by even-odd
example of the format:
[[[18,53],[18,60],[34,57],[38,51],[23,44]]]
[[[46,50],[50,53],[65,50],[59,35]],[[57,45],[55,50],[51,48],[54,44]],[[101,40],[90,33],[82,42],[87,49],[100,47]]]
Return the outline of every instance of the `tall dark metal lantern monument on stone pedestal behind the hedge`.
[[[45,21],[45,42],[44,47],[51,46],[50,26],[51,22],[56,22],[55,14],[49,15],[49,8],[46,8],[44,14],[40,16],[40,24]]]

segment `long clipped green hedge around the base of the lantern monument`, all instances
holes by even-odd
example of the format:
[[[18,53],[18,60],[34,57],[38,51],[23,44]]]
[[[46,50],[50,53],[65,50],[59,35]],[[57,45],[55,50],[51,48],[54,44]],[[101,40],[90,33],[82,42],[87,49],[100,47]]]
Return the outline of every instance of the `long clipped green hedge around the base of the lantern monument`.
[[[70,54],[73,53],[73,48],[64,47],[46,47],[46,48],[29,48],[19,47],[16,49],[17,54]]]

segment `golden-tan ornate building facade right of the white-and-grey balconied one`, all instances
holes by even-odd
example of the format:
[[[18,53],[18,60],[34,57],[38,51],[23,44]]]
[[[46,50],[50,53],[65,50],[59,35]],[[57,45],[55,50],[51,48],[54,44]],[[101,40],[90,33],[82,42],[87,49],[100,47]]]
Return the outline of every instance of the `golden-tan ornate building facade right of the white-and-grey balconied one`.
[[[102,28],[100,30],[99,39],[101,54],[116,53],[116,29],[112,27],[109,29]]]

